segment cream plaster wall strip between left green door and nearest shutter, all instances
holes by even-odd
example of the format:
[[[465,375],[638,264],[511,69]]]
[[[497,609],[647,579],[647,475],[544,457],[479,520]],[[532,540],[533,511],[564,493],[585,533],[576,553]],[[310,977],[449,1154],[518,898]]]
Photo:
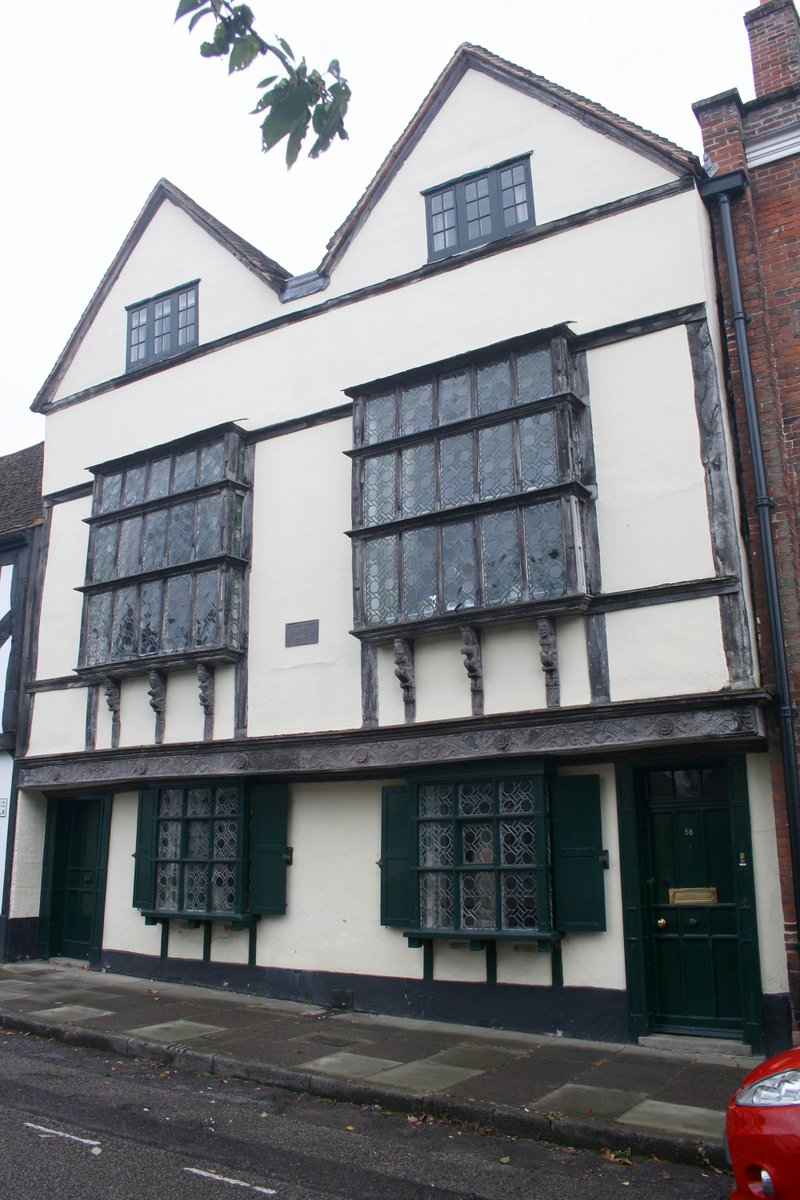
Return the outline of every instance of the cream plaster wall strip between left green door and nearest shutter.
[[[112,802],[112,826],[108,839],[108,880],[103,917],[103,949],[133,954],[161,953],[161,926],[145,925],[133,907],[133,871],[136,859],[138,792],[119,792]]]

